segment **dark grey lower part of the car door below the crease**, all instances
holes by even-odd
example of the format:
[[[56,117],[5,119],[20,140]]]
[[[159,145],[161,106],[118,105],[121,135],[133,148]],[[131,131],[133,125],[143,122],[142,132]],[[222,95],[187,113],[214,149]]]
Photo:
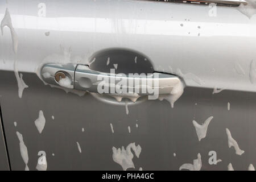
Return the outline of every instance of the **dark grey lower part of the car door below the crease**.
[[[237,170],[256,165],[255,93],[224,90],[212,94],[211,89],[185,88],[174,109],[166,101],[148,100],[129,106],[126,115],[125,106],[100,102],[90,94],[67,94],[44,85],[35,74],[24,73],[23,79],[29,88],[20,99],[14,73],[0,74],[2,116],[14,170],[25,168],[16,131],[23,135],[31,170],[36,168],[39,151],[46,152],[48,170],[121,170],[113,161],[112,147],[126,147],[131,142],[142,148],[139,158],[133,158],[135,170],[178,170],[181,164],[193,163],[198,153],[201,170],[226,170],[229,163]],[[39,110],[46,118],[41,134],[34,123]],[[207,137],[199,142],[192,121],[201,124],[210,116]],[[241,156],[228,147],[226,128],[245,151]],[[216,151],[222,162],[210,165],[209,151]]]

